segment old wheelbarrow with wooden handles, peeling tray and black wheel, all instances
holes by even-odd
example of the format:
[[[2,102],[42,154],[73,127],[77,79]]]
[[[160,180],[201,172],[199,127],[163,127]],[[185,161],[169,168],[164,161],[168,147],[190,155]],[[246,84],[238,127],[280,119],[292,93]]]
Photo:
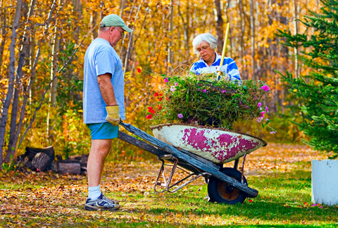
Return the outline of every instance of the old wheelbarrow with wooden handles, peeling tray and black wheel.
[[[151,127],[155,136],[152,137],[132,125],[124,122],[120,122],[120,125],[149,143],[124,132],[118,132],[118,139],[153,153],[161,160],[162,165],[154,184],[155,192],[176,192],[199,177],[204,177],[208,182],[208,196],[211,202],[243,203],[246,197],[258,196],[258,191],[251,189],[244,177],[244,162],[247,154],[267,145],[262,139],[225,129],[184,124]],[[242,172],[237,170],[241,157],[244,157]],[[233,168],[223,167],[224,163],[232,160]],[[173,165],[170,165],[172,169],[167,179],[163,172],[168,163]],[[172,184],[177,168],[189,172],[187,177]],[[160,182],[160,179],[163,179],[164,183]],[[161,186],[164,189],[158,191]]]

